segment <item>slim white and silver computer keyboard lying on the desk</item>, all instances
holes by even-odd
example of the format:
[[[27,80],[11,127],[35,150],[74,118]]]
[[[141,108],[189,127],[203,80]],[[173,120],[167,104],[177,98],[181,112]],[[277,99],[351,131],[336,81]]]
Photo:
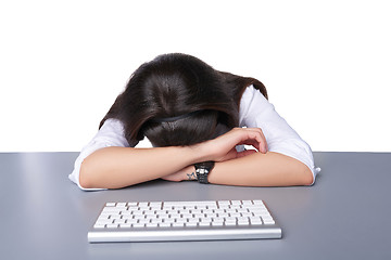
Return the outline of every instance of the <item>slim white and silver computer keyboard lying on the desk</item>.
[[[281,238],[263,200],[108,203],[90,243]]]

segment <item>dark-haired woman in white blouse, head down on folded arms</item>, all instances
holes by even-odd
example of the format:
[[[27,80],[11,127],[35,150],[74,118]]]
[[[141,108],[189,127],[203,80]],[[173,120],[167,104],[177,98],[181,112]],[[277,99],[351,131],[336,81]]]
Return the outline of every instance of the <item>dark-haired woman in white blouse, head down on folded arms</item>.
[[[135,148],[144,136],[153,147]],[[70,179],[83,190],[159,178],[288,186],[311,185],[318,170],[310,146],[268,103],[263,83],[175,53],[134,73]]]

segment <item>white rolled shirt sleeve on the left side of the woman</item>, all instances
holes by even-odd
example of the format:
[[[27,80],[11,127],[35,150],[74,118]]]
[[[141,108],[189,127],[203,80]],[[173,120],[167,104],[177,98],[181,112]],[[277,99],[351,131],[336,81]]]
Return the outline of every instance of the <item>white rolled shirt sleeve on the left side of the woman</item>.
[[[83,147],[79,156],[75,160],[74,170],[68,176],[70,180],[78,185],[83,191],[100,191],[106,188],[85,188],[80,185],[79,176],[80,167],[84,159],[93,152],[109,146],[129,147],[129,143],[125,139],[124,126],[122,121],[109,118],[104,121],[103,126],[99,129],[93,139]]]

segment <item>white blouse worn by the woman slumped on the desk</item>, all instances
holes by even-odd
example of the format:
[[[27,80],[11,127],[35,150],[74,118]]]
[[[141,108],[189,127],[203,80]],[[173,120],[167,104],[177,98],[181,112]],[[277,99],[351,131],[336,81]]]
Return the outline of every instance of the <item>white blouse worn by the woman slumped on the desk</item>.
[[[266,138],[268,152],[280,153],[302,161],[313,172],[315,182],[320,168],[315,168],[310,145],[278,115],[274,105],[253,86],[245,89],[240,100],[239,126],[261,128]],[[93,139],[81,150],[75,161],[75,168],[70,174],[71,181],[84,191],[104,190],[81,187],[79,172],[81,162],[88,155],[108,146],[129,147],[129,143],[125,139],[124,126],[117,119],[105,120]],[[237,150],[242,148],[237,147]]]

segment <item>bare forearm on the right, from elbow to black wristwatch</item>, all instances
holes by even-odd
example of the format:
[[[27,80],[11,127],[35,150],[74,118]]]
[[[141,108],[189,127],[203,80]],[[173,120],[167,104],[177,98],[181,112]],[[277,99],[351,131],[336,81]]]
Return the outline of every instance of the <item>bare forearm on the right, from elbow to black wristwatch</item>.
[[[209,174],[209,182],[242,186],[310,185],[313,174],[303,162],[268,152],[216,162]]]

